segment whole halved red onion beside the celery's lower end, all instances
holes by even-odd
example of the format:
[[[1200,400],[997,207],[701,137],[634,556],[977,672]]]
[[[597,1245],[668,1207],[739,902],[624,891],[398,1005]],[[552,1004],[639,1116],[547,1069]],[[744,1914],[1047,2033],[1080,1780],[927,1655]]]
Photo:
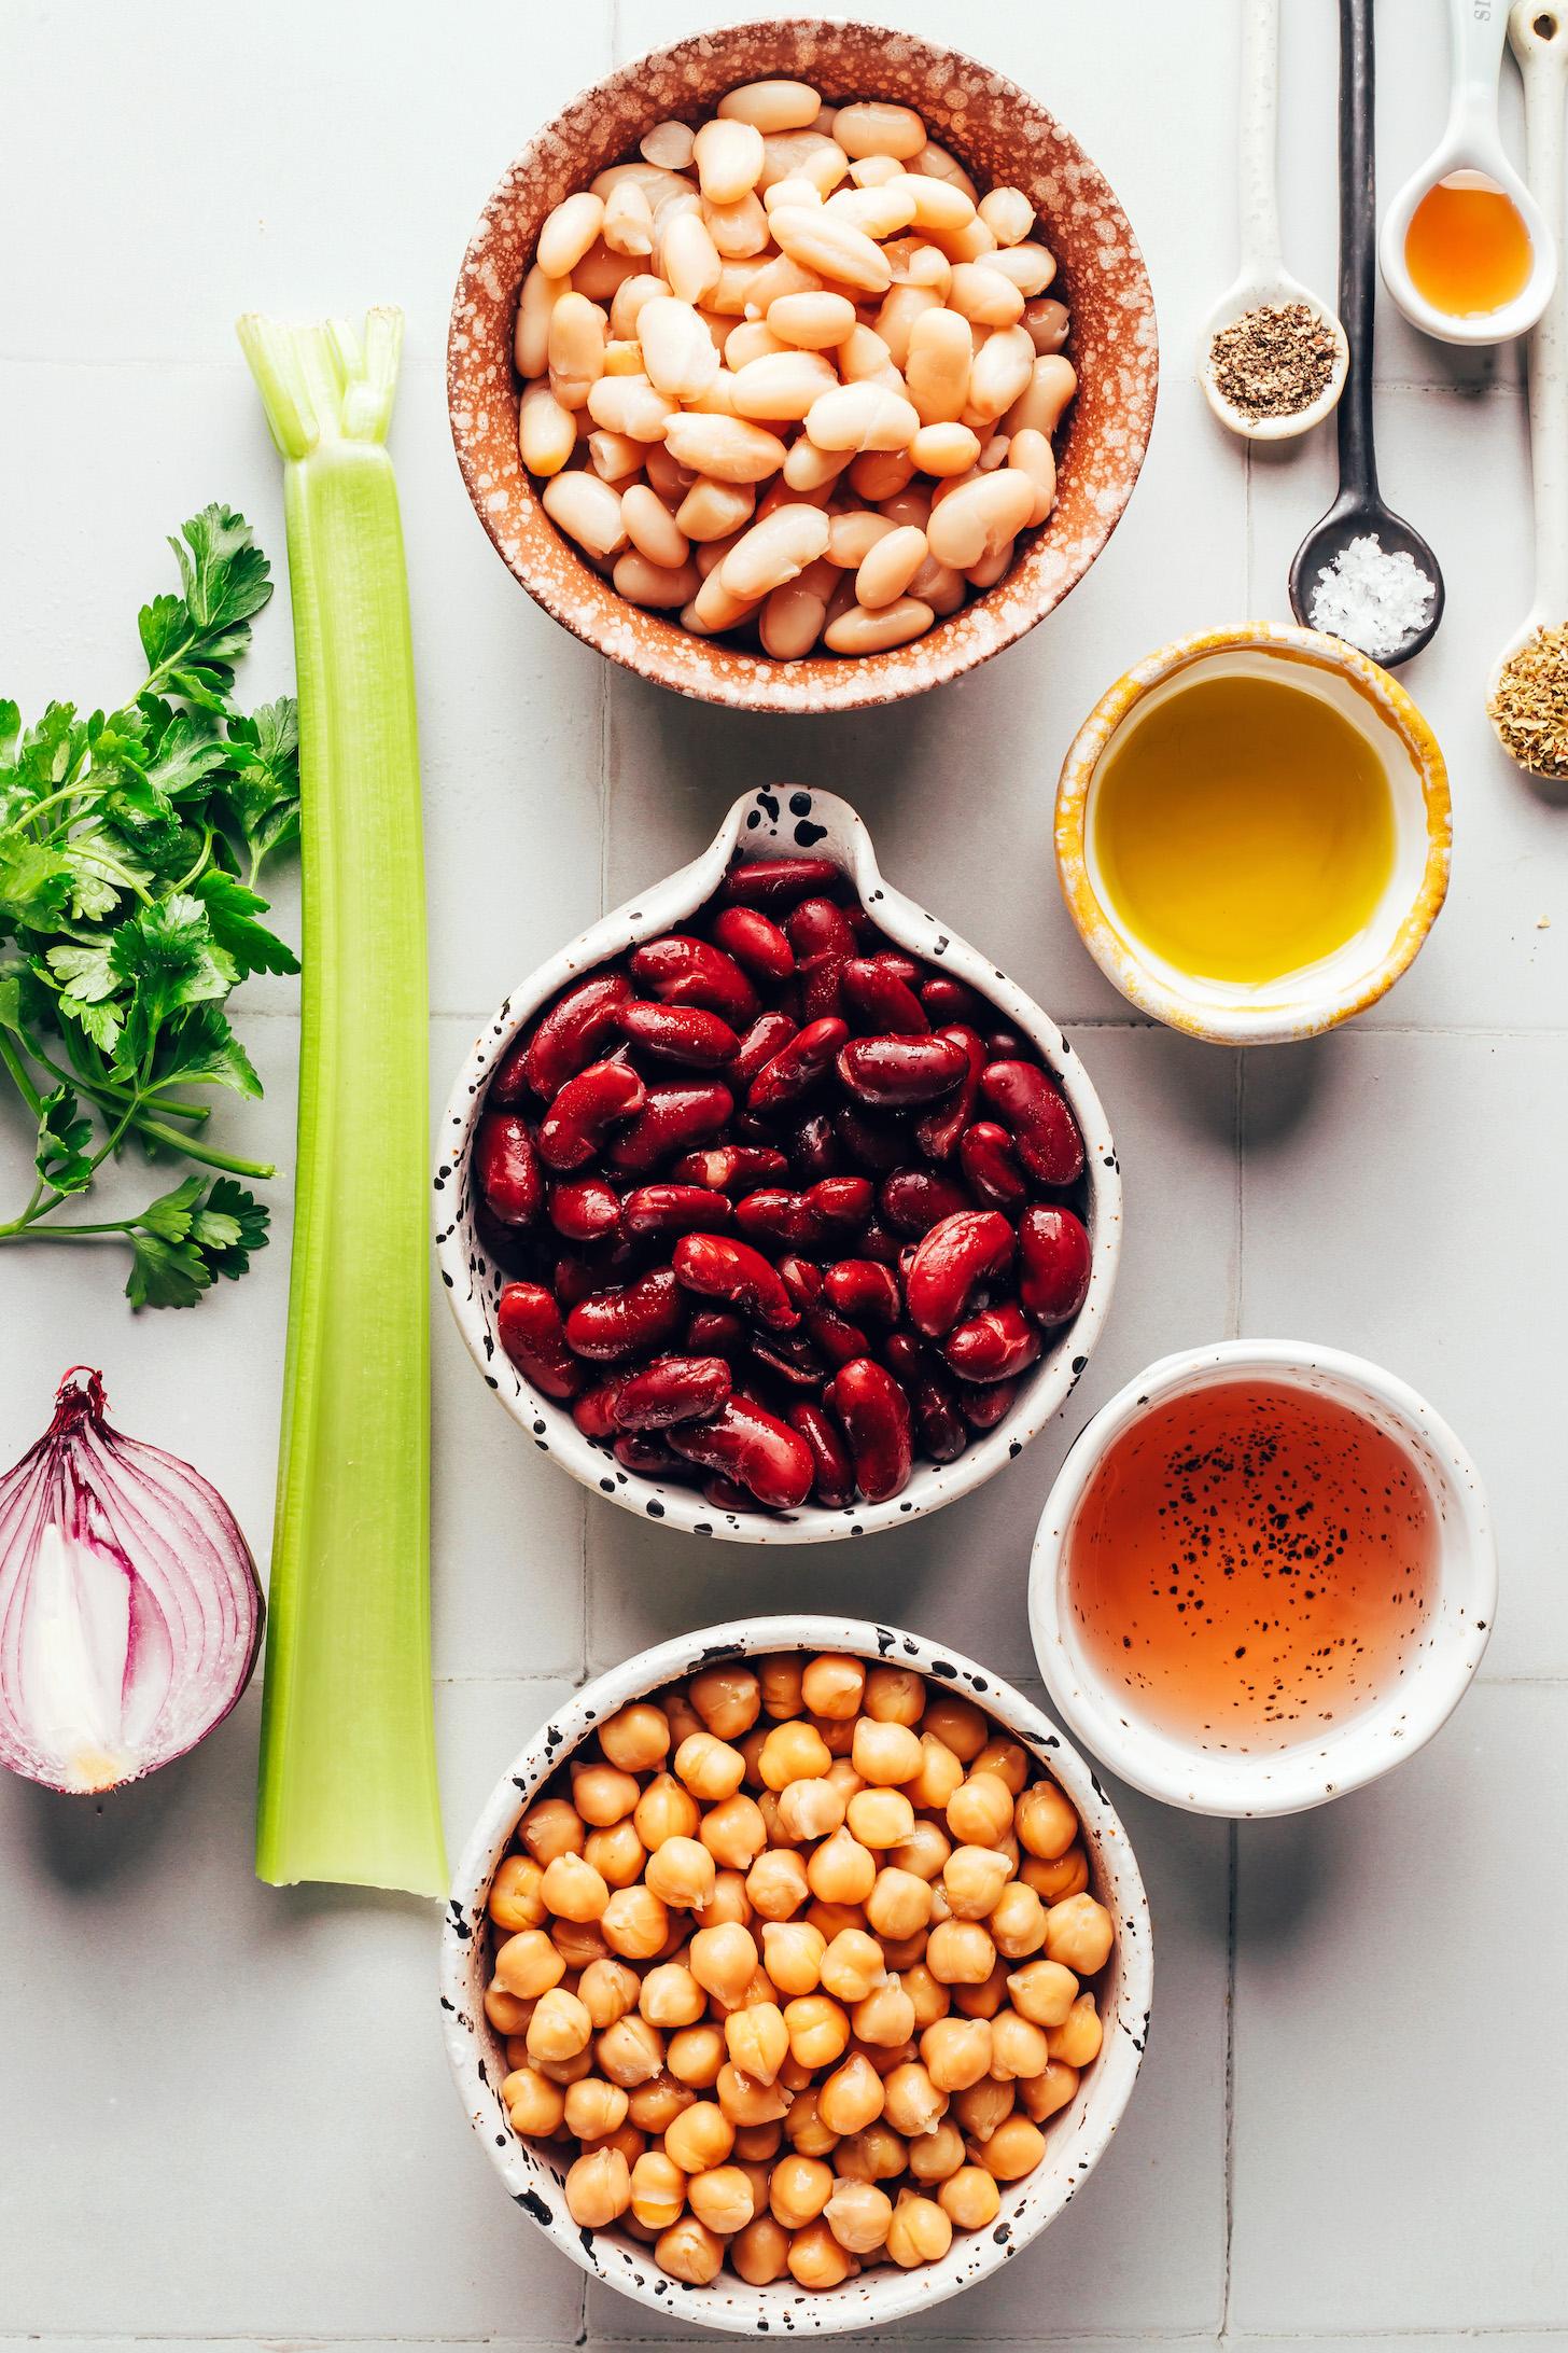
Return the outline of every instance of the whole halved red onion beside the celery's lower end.
[[[73,1365],[0,1480],[0,1765],[61,1791],[139,1781],[252,1680],[261,1584],[200,1471],[103,1419]]]

